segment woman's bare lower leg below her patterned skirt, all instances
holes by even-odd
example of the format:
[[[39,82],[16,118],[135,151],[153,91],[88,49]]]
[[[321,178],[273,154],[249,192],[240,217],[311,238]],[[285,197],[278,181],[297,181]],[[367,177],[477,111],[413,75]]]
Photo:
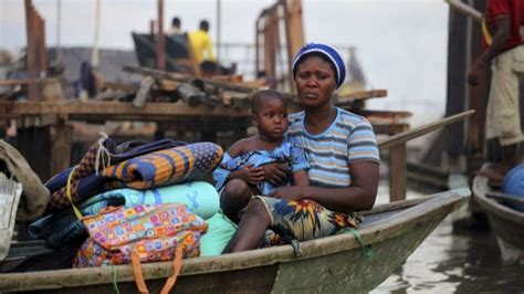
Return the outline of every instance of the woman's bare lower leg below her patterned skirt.
[[[271,219],[262,201],[260,199],[251,200],[248,210],[240,220],[239,229],[222,253],[256,249],[270,224]]]

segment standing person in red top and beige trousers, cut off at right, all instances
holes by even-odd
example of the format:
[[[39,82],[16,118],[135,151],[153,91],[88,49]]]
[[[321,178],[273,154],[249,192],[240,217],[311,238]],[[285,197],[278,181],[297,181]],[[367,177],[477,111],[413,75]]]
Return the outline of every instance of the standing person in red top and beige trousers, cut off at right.
[[[489,162],[479,172],[492,185],[500,185],[505,174],[521,161],[521,114],[518,76],[524,72],[524,45],[521,22],[522,0],[488,0],[482,34],[484,51],[473,62],[468,75],[470,85],[479,84],[479,73],[491,65],[491,90],[486,109],[485,137],[497,138],[501,162]]]

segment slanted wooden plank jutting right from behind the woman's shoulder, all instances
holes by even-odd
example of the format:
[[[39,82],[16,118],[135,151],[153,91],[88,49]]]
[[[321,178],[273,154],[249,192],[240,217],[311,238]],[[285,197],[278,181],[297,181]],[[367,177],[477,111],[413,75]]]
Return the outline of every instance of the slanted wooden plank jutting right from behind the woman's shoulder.
[[[408,141],[410,139],[413,139],[413,138],[420,137],[422,135],[426,135],[426,134],[428,134],[430,132],[433,132],[438,128],[441,128],[441,127],[443,127],[448,124],[452,124],[452,123],[459,122],[461,119],[464,119],[465,117],[468,117],[468,116],[470,116],[474,113],[475,113],[475,111],[463,112],[463,113],[460,113],[460,114],[452,115],[450,117],[442,118],[442,119],[433,122],[433,123],[429,123],[429,124],[412,128],[408,132],[390,136],[388,138],[378,140],[378,143],[377,143],[378,147],[380,149],[388,149],[388,148],[395,147],[397,145],[405,144],[406,141]]]

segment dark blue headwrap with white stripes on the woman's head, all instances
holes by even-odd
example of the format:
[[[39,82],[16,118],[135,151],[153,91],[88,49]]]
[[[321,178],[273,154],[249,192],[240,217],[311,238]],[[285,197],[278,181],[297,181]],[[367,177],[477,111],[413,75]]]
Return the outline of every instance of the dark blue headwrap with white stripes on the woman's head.
[[[322,44],[322,43],[308,43],[305,44],[298,53],[295,55],[295,60],[293,61],[293,78],[295,77],[296,73],[296,65],[298,61],[304,57],[305,55],[308,55],[311,53],[319,53],[325,55],[332,63],[335,65],[336,70],[336,88],[338,88],[343,83],[344,80],[346,78],[346,65],[344,65],[344,61],[342,60],[340,54],[338,51],[327,44]]]

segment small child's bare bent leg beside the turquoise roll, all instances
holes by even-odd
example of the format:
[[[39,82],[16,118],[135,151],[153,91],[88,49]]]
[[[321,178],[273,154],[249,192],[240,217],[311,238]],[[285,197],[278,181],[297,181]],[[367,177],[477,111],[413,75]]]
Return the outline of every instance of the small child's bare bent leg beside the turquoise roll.
[[[220,208],[233,222],[239,223],[239,211],[251,200],[251,187],[241,179],[232,179],[226,183],[220,197]]]

